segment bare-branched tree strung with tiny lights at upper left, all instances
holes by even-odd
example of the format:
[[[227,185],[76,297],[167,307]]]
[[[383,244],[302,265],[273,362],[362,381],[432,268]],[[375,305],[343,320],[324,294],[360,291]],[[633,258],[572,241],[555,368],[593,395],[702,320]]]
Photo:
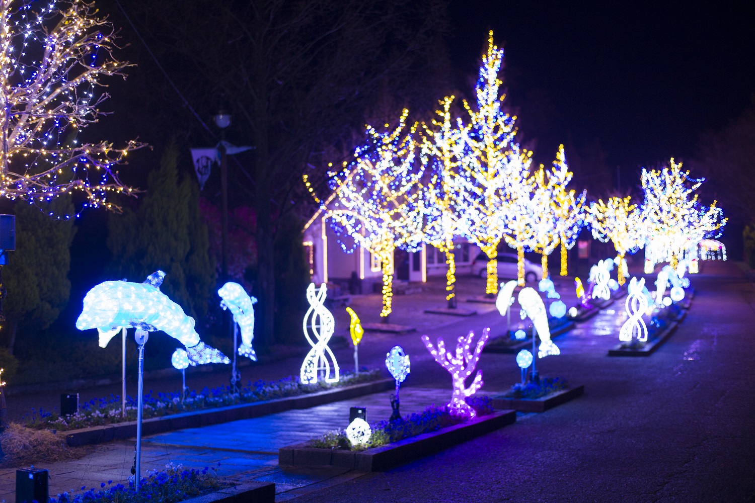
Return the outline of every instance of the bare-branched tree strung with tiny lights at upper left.
[[[2,0],[0,196],[41,201],[79,191],[89,207],[119,210],[106,196],[134,194],[115,168],[142,143],[77,139],[104,115],[103,78],[128,66],[113,56],[114,38],[91,3]]]

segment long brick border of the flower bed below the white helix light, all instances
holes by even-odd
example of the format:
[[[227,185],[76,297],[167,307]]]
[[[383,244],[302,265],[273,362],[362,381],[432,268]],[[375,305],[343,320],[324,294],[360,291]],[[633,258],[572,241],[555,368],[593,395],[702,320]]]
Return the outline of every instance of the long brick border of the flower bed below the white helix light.
[[[156,418],[144,419],[142,434],[153,435],[165,431],[182,430],[183,428],[199,428],[207,425],[251,419],[268,414],[281,413],[291,409],[307,409],[323,403],[349,400],[365,394],[380,393],[393,389],[393,379],[378,379],[372,382],[362,382],[356,385],[344,386],[318,393],[300,394],[296,397],[277,398],[253,403],[239,403],[213,409],[196,410],[190,413],[171,414]],[[122,440],[135,437],[137,423],[135,421],[116,423],[112,425],[92,426],[79,430],[60,432],[66,438],[69,446],[85,446],[94,443],[104,443],[110,440]]]

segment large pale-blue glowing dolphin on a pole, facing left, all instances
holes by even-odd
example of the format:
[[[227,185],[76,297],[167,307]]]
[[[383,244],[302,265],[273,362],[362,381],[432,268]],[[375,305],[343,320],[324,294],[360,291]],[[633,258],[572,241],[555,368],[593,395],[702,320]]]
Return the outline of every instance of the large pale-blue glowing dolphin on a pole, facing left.
[[[160,291],[163,278],[165,272],[156,271],[144,283],[104,281],[98,284],[84,297],[84,309],[76,320],[76,328],[96,328],[101,346],[103,342],[107,344],[119,327],[135,327],[148,332],[162,330],[186,346],[189,363],[193,366],[230,363],[223,353],[199,339],[194,330],[194,318],[186,316],[180,305]]]

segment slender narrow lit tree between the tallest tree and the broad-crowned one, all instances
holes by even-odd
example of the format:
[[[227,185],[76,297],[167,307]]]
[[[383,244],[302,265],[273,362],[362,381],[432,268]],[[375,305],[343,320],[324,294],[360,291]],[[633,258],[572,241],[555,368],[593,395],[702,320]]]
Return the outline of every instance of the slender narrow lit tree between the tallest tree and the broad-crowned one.
[[[453,96],[440,100],[442,110],[436,111],[440,119],[433,118],[433,127],[422,124],[425,131],[422,139],[423,159],[425,164],[430,164],[432,173],[427,186],[428,214],[423,229],[424,241],[445,255],[448,266],[445,271],[445,299],[448,308],[456,307],[454,238],[460,233],[459,225],[468,205],[468,200],[458,197],[453,183],[464,152],[461,127],[451,121],[453,101]]]

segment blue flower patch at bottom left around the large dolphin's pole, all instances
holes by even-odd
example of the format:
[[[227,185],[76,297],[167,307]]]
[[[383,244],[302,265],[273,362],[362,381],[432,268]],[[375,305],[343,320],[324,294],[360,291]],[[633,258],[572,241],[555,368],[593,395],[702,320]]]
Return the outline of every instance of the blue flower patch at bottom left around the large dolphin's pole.
[[[137,494],[134,482],[113,485],[100,483],[100,489],[94,487],[76,495],[63,492],[50,503],[94,503],[95,501],[115,501],[117,503],[175,503],[189,498],[216,492],[231,484],[217,476],[217,468],[205,467],[202,470],[183,470],[183,465],[170,463],[165,470],[147,471],[141,480],[140,492]],[[86,487],[82,487],[85,490]]]

